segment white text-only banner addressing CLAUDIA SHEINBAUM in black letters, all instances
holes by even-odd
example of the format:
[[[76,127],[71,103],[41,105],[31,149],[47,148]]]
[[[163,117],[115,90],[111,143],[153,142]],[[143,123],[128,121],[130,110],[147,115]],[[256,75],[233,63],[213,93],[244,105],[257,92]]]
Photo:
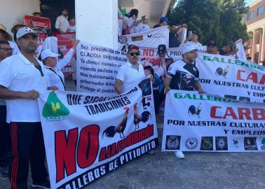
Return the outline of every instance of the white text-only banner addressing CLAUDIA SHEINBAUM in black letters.
[[[76,51],[76,90],[116,95],[116,73],[125,62],[125,52],[80,41]]]

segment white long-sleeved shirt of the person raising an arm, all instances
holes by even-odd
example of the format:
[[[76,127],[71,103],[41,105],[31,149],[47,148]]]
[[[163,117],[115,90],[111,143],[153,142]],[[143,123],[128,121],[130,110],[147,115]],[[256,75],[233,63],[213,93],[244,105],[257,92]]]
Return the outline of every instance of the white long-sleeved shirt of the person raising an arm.
[[[58,90],[64,90],[64,73],[62,73],[62,68],[71,62],[72,56],[74,55],[74,49],[71,48],[63,59],[59,59],[55,67],[50,68],[45,66],[45,75],[49,79],[50,86],[56,86]],[[61,80],[62,78],[62,80]],[[62,83],[63,82],[63,83]],[[50,87],[49,86],[49,87]]]

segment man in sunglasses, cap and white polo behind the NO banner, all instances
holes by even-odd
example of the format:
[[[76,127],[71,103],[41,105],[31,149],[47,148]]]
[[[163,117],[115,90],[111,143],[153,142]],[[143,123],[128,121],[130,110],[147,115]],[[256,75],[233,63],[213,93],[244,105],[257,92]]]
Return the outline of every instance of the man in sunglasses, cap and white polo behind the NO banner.
[[[144,67],[138,63],[139,48],[135,45],[128,46],[128,62],[118,69],[114,88],[118,94],[128,92],[145,78]]]

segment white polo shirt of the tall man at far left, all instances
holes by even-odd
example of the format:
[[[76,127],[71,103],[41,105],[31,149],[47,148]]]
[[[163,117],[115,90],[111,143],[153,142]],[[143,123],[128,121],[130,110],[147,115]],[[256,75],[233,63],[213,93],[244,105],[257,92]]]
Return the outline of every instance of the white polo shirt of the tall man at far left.
[[[43,71],[42,62],[36,59]],[[0,85],[11,91],[36,90],[40,94],[48,87],[48,78],[21,53],[7,57],[0,64]],[[6,99],[6,122],[39,122],[39,106],[33,99]]]

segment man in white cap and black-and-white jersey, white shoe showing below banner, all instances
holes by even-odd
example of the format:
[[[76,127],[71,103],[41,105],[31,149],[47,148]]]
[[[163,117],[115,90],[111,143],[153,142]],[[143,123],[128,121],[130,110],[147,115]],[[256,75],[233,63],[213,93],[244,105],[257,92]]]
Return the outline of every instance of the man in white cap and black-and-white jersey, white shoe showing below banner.
[[[170,89],[175,90],[193,90],[195,88],[199,93],[205,93],[198,80],[199,71],[193,64],[196,61],[198,49],[193,45],[183,45],[182,59],[172,63],[165,74],[165,93]],[[184,158],[182,151],[175,152],[177,158]]]

